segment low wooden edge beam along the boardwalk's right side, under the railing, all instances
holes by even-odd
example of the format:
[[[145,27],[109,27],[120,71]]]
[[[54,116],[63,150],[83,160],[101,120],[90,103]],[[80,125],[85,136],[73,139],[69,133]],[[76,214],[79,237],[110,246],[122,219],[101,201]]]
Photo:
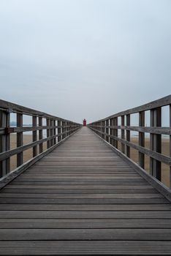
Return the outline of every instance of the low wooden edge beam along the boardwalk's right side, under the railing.
[[[89,128],[89,129],[91,129],[91,128]],[[91,131],[94,132],[93,129],[91,129]],[[123,160],[125,160],[129,164],[129,166],[131,166],[135,171],[137,171],[137,173],[140,174],[140,176],[142,176],[142,178],[145,178],[145,180],[148,181],[148,183],[150,183],[151,186],[153,186],[157,191],[159,191],[162,195],[164,195],[164,197],[166,197],[167,200],[169,200],[171,202],[171,189],[169,189],[168,187],[164,186],[164,184],[162,184],[157,178],[155,178],[155,177],[151,176],[150,174],[148,174],[142,167],[140,167],[140,165],[137,165],[136,162],[132,161],[132,159],[130,159],[129,157],[126,157],[125,154],[123,154],[121,151],[119,151],[113,145],[108,143],[107,140],[104,140],[102,137],[97,135],[96,132],[94,132],[94,135],[96,135],[104,143],[106,143],[107,146],[112,148],[113,151],[116,154],[118,154],[119,157],[121,157]]]

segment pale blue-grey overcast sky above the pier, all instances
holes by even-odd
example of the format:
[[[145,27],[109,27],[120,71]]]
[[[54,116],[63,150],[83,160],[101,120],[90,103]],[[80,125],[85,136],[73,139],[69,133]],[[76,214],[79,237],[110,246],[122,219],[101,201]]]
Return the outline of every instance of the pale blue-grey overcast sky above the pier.
[[[0,0],[0,98],[81,122],[167,96],[170,13],[170,0]]]

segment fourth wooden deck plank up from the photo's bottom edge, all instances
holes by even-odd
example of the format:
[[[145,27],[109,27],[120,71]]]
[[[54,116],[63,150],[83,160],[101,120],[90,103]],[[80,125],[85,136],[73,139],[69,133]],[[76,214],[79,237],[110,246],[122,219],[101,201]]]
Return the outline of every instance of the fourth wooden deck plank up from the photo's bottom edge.
[[[170,211],[0,211],[1,219],[171,219]],[[138,220],[137,220],[138,221]],[[160,222],[160,220],[159,220]]]

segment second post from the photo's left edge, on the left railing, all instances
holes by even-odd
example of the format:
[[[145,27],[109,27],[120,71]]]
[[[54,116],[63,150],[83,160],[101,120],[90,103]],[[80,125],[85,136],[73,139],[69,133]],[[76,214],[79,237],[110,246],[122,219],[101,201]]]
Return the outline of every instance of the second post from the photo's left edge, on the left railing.
[[[17,127],[23,127],[23,114],[17,113]],[[17,133],[17,147],[23,146],[23,132]],[[23,152],[17,154],[17,167],[23,165]]]

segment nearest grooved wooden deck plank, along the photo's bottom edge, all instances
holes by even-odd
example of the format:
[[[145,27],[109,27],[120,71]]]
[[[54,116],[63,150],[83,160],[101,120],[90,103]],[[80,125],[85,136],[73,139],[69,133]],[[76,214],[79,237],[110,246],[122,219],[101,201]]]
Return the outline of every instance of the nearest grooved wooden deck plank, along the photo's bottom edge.
[[[0,241],[0,255],[170,255],[170,241]]]

